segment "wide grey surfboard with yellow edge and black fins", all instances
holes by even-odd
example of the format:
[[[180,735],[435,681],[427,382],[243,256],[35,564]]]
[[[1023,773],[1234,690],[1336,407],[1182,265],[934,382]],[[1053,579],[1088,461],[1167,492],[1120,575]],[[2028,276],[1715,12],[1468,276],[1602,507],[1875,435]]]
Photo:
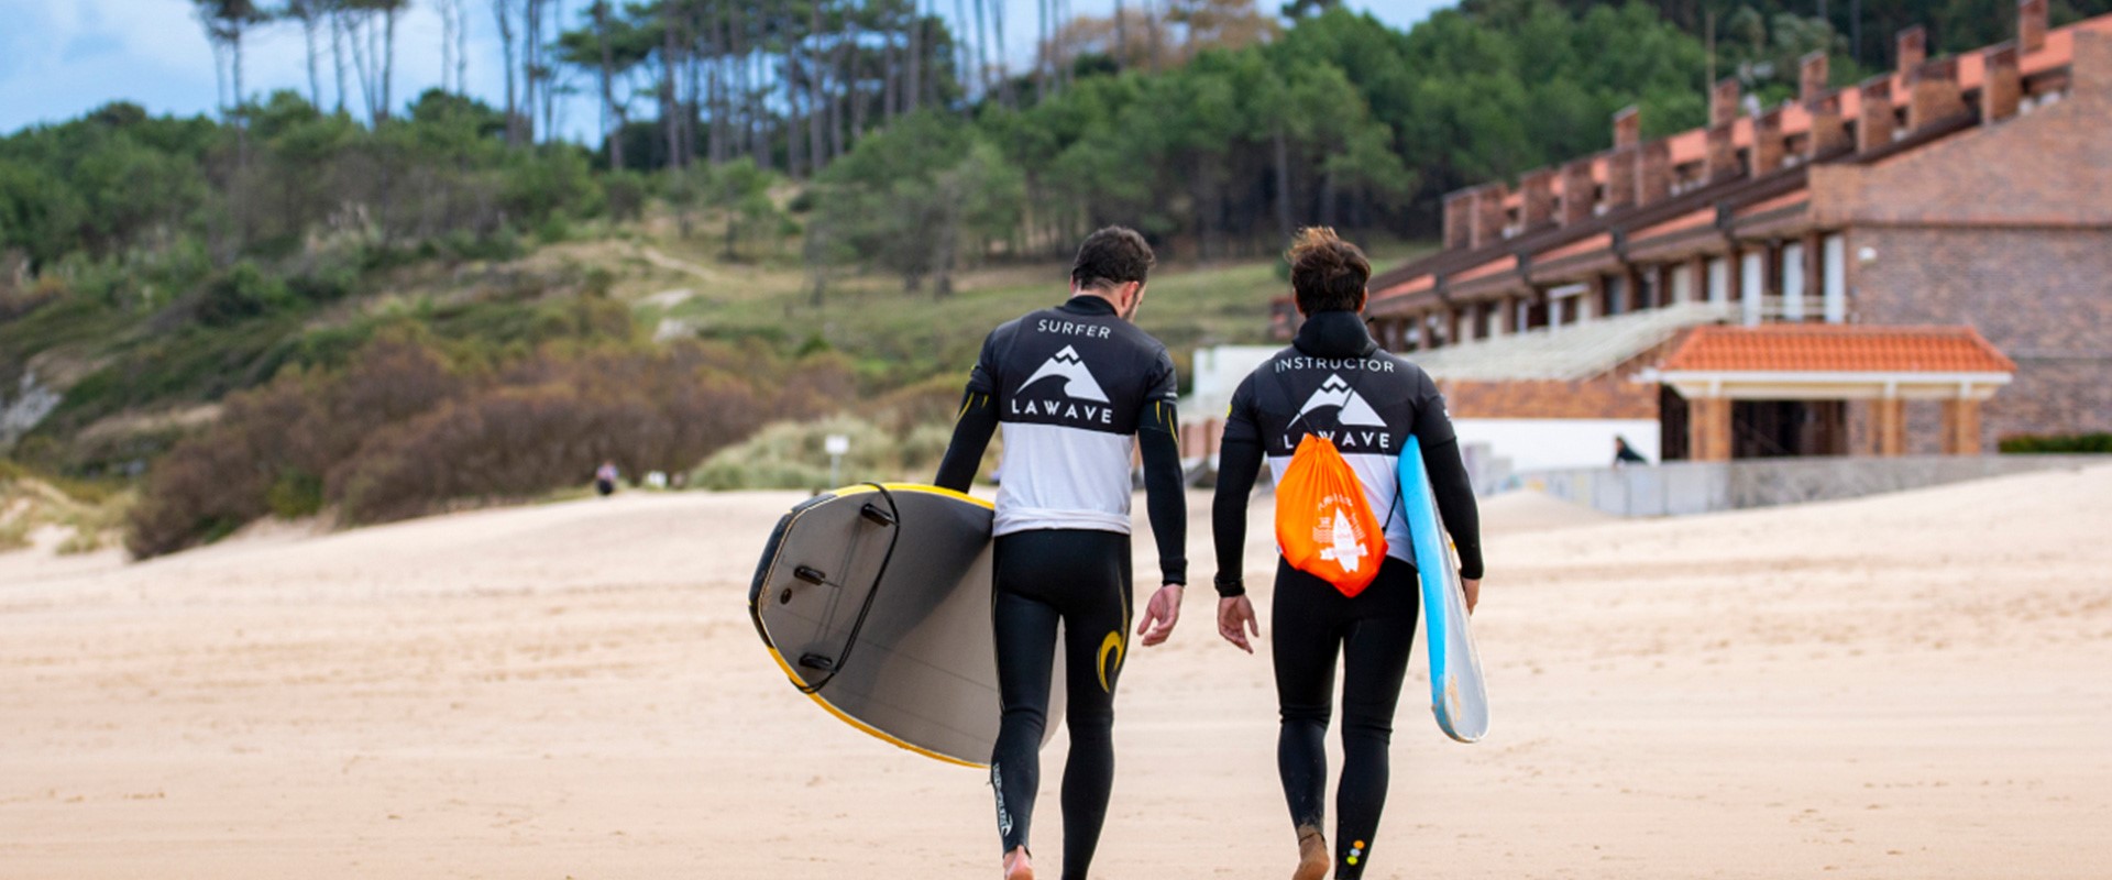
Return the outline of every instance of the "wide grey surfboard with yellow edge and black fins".
[[[986,500],[910,483],[800,502],[756,563],[756,635],[836,720],[919,755],[986,766],[1001,715],[991,517]],[[1056,669],[1050,732],[1062,718]]]

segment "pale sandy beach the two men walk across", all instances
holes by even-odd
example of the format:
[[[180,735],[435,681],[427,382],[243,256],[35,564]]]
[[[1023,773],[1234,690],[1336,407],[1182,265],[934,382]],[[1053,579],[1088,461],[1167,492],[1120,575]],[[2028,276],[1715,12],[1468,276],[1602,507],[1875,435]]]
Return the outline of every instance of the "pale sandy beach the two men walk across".
[[[0,878],[995,876],[976,770],[762,652],[746,582],[794,500],[0,555]],[[1668,521],[1506,496],[1487,525],[1493,732],[1442,739],[1411,680],[1366,876],[2112,872],[2112,468]],[[1094,876],[1288,876],[1269,665],[1212,610],[1130,658]]]

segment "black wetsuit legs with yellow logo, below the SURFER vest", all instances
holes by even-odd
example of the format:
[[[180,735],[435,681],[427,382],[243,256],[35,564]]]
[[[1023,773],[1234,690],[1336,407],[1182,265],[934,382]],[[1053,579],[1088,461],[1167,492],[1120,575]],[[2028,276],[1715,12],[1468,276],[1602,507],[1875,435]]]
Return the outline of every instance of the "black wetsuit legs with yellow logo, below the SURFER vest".
[[[1026,846],[1041,785],[1056,623],[1064,627],[1071,758],[1062,774],[1062,878],[1083,880],[1115,781],[1115,680],[1128,652],[1130,536],[1039,530],[997,538],[997,686],[1005,715],[991,755],[1003,850]]]

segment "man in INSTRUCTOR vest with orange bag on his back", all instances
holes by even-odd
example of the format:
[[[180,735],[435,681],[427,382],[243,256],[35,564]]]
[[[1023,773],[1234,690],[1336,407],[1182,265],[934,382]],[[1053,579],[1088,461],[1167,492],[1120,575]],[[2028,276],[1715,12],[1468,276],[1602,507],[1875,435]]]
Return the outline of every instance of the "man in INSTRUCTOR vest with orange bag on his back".
[[[1299,842],[1295,880],[1320,880],[1328,872],[1339,880],[1360,878],[1385,806],[1394,707],[1421,604],[1400,456],[1419,449],[1432,487],[1428,498],[1459,553],[1466,608],[1474,606],[1483,574],[1481,515],[1445,399],[1430,374],[1379,350],[1364,329],[1369,279],[1371,262],[1333,230],[1305,230],[1290,249],[1290,287],[1305,323],[1290,348],[1261,363],[1231,397],[1210,517],[1219,635],[1233,646],[1252,652],[1248,635],[1261,635],[1242,580],[1242,549],[1246,500],[1263,460],[1280,487],[1278,544],[1307,566],[1301,570],[1280,555],[1271,610],[1282,711],[1276,755]],[[1358,485],[1362,498],[1328,490],[1337,485]],[[1284,509],[1293,496],[1305,509]],[[1375,576],[1366,568],[1373,561]],[[1438,563],[1449,566],[1449,559]],[[1343,768],[1331,848],[1324,736],[1335,713],[1337,658],[1343,665]]]

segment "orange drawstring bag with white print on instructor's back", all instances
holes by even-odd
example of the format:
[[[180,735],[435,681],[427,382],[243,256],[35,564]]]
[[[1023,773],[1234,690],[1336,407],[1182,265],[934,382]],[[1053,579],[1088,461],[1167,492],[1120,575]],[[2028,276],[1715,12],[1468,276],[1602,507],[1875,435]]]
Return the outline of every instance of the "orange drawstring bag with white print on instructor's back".
[[[1385,530],[1335,441],[1305,435],[1276,483],[1276,547],[1290,568],[1356,597],[1379,576]]]

